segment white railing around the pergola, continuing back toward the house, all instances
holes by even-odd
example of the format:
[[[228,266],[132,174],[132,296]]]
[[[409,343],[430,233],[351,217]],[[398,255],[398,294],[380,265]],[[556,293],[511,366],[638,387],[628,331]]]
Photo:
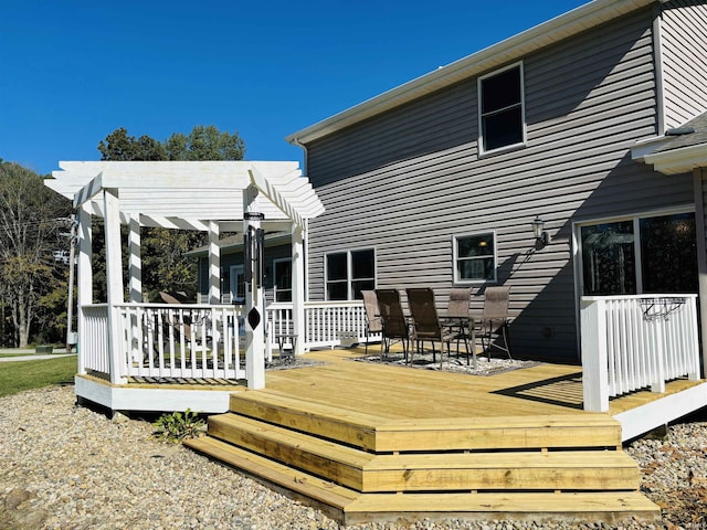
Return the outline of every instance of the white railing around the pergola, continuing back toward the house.
[[[82,308],[84,320],[80,373],[110,375],[108,306]],[[115,344],[117,378],[245,379],[242,306],[204,304],[118,304]],[[266,308],[266,358],[277,350],[277,335],[294,333],[292,304]],[[304,339],[304,340],[303,340]],[[361,301],[305,303],[305,351],[363,342],[366,312]],[[368,340],[380,340],[380,333]]]

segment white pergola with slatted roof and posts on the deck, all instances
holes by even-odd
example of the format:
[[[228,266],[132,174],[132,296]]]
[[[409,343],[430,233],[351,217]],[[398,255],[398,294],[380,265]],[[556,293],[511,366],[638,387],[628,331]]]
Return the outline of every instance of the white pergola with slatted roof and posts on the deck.
[[[304,336],[307,220],[324,212],[309,180],[292,161],[118,162],[64,161],[45,184],[73,201],[78,216],[78,307],[92,304],[91,219],[105,220],[108,307],[141,303],[140,226],[208,232],[210,304],[219,304],[221,232],[245,232],[249,224],[267,232],[292,234],[294,333]],[[262,213],[247,221],[246,213]],[[255,216],[257,218],[257,216]],[[120,225],[129,226],[129,300],[124,300]],[[263,315],[262,286],[251,283],[246,311]],[[113,314],[113,311],[110,311]],[[261,319],[262,320],[262,319]],[[109,321],[110,343],[118,327]],[[246,369],[250,388],[264,386],[262,332],[246,327]],[[302,350],[303,341],[297,342]],[[302,351],[296,351],[299,353]],[[115,356],[112,356],[114,358]]]

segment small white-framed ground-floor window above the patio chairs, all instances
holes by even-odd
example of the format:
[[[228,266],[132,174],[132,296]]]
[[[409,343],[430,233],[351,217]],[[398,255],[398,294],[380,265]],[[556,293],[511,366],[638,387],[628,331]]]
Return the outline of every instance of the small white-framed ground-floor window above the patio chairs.
[[[496,234],[457,235],[454,237],[454,282],[496,280]]]

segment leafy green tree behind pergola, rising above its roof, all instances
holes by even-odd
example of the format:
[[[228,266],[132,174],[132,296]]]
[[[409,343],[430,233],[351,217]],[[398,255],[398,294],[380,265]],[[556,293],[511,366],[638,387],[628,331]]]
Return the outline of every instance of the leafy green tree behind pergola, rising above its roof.
[[[213,125],[196,126],[189,135],[175,132],[165,142],[149,136],[135,138],[120,127],[98,144],[102,160],[242,160],[245,142],[238,132],[223,132]],[[194,298],[197,265],[184,253],[204,244],[198,232],[143,229],[143,286],[150,300],[160,290],[184,292]]]

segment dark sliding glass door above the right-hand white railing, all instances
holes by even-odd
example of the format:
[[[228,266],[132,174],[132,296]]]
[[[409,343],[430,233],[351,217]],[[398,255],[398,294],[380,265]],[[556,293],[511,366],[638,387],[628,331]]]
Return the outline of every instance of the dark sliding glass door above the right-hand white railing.
[[[695,214],[580,227],[584,295],[697,293]]]

